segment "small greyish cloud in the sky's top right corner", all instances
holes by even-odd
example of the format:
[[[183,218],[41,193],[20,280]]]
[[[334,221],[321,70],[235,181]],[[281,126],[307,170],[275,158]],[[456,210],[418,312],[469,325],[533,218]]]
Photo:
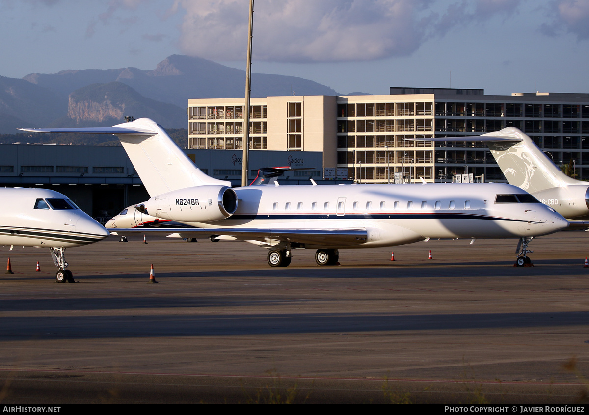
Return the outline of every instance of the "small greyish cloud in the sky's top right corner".
[[[558,36],[562,31],[577,36],[577,40],[589,39],[589,0],[556,0],[547,9],[550,22],[541,26],[548,36]]]

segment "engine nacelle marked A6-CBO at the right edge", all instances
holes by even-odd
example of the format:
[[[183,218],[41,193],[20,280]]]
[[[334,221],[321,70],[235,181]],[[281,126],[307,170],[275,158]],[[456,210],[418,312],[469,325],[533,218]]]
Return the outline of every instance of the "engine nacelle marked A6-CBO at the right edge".
[[[568,219],[589,219],[589,186],[587,185],[545,189],[532,195]]]

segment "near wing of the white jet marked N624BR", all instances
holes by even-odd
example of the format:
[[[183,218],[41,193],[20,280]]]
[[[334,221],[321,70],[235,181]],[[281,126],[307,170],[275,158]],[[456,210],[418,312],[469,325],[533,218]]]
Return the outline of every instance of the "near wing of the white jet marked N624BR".
[[[256,228],[202,228],[194,227],[167,227],[161,228],[128,228],[128,229],[108,229],[111,235],[120,235],[123,233],[178,233],[181,237],[209,237],[215,236],[232,236],[238,240],[259,240],[267,242],[269,240],[279,240],[282,242],[306,243],[309,245],[321,246],[355,246],[366,242],[368,232],[366,229],[256,229]]]

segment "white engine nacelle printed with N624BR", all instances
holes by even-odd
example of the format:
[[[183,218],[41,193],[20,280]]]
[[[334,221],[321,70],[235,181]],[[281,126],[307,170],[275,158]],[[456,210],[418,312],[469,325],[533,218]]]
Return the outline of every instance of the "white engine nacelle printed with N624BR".
[[[214,222],[233,215],[237,195],[227,186],[194,186],[154,196],[137,209],[177,222]]]

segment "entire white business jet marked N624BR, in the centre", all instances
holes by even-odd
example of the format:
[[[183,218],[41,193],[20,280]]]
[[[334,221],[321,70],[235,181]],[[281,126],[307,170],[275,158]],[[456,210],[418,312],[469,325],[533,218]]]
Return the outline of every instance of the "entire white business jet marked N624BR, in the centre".
[[[150,229],[184,237],[220,235],[269,250],[287,266],[294,249],[315,249],[335,265],[346,248],[405,245],[431,238],[518,238],[517,265],[530,263],[535,236],[568,226],[554,209],[505,183],[246,186],[207,176],[166,131],[147,118],[111,128],[24,129],[118,136],[151,198],[137,209],[200,229]],[[132,232],[133,229],[116,229]],[[146,232],[138,229],[138,232]],[[472,243],[471,242],[471,243]]]

